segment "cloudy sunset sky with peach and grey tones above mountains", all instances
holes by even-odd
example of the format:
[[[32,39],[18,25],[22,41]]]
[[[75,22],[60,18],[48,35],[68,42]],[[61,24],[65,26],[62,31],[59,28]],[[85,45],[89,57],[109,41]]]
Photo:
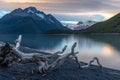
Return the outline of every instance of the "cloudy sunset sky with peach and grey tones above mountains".
[[[104,21],[119,13],[120,0],[0,0],[0,17],[16,9],[34,6],[60,21]]]

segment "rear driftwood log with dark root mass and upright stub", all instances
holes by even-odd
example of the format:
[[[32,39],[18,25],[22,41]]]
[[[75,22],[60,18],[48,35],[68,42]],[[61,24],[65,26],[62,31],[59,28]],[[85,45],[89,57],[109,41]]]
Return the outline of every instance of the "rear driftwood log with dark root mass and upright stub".
[[[55,52],[53,55],[41,55],[40,53],[24,53],[19,50],[20,43],[22,40],[22,35],[19,35],[18,39],[16,40],[15,47],[11,47],[10,44],[6,43],[4,46],[1,47],[0,50],[0,64],[8,66],[12,64],[13,61],[19,62],[22,64],[26,63],[38,63],[39,61],[47,61],[53,56],[63,53],[66,49],[66,46],[63,48],[62,51]]]

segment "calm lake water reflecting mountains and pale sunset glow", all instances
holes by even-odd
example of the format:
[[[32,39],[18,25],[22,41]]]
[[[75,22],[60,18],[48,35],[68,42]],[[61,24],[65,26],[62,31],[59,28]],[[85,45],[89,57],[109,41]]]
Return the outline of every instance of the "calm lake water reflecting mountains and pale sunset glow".
[[[14,44],[18,35],[0,35],[0,42]],[[98,57],[104,67],[120,70],[120,35],[23,35],[22,46],[55,52],[74,42],[79,51],[79,60],[89,62]]]

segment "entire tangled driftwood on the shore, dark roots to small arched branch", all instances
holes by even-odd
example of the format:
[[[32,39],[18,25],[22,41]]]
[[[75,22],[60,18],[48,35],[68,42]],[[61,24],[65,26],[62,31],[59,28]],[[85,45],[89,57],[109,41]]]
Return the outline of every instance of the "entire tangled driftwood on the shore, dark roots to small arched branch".
[[[38,65],[38,70],[40,73],[45,74],[47,72],[50,72],[56,68],[58,68],[68,57],[73,58],[78,66],[78,68],[81,68],[81,65],[78,61],[77,54],[79,52],[75,52],[74,49],[77,46],[77,43],[75,42],[71,47],[70,53],[65,53],[65,50],[67,49],[67,45],[61,50],[57,51],[52,54],[43,55],[40,53],[24,53],[20,51],[20,43],[22,41],[22,35],[19,35],[18,39],[15,41],[16,45],[11,46],[9,43],[6,43],[4,46],[0,48],[0,65],[1,66],[10,66],[13,62],[21,63],[21,64],[27,64],[27,63],[35,63]],[[58,56],[56,60],[54,60],[51,64],[49,64],[49,61],[53,59],[54,56]],[[89,66],[92,62],[96,60],[99,63],[99,60],[97,58],[94,58],[92,61],[90,61]]]

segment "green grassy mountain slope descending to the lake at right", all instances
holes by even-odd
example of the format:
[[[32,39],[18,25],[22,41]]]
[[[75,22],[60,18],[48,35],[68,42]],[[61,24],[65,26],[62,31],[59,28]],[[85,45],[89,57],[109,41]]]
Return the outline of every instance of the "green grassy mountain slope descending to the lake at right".
[[[85,33],[120,33],[120,13],[114,17],[99,22],[92,27],[82,31]]]

